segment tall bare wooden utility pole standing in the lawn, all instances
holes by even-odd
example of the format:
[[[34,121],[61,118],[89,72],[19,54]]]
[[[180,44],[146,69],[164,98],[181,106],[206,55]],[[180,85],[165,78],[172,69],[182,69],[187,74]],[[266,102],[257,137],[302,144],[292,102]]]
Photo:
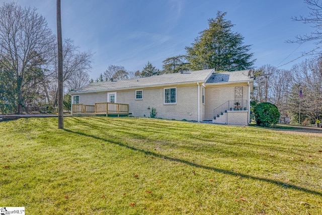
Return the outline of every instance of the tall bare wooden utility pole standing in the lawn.
[[[64,128],[63,79],[62,79],[62,36],[60,0],[57,0],[57,45],[58,45],[58,129]]]

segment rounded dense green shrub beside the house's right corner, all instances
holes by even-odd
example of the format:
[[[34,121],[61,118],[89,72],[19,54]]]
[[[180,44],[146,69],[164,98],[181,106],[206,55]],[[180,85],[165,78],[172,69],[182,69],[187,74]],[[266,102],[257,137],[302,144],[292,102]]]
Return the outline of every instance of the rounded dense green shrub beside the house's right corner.
[[[257,124],[263,127],[270,127],[278,123],[280,112],[276,105],[263,102],[255,106],[254,114]]]

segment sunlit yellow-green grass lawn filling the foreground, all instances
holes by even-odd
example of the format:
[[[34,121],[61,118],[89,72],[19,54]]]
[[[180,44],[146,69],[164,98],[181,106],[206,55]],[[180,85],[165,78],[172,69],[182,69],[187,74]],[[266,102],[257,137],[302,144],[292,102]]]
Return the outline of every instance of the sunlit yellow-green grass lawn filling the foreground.
[[[322,214],[322,131],[148,118],[0,122],[0,206],[26,214]]]

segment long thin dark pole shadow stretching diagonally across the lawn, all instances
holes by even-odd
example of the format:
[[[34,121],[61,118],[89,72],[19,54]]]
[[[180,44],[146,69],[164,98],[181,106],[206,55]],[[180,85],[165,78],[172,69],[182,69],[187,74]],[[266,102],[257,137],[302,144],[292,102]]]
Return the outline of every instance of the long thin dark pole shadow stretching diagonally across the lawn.
[[[267,179],[267,178],[251,176],[251,175],[247,175],[247,174],[243,174],[243,173],[236,173],[236,172],[233,172],[233,171],[228,171],[228,170],[219,169],[219,168],[215,168],[215,167],[203,166],[203,165],[200,165],[200,164],[195,164],[195,163],[190,162],[190,161],[186,161],[186,160],[182,160],[182,159],[178,159],[178,158],[171,158],[171,157],[168,157],[168,156],[165,156],[165,155],[160,155],[160,154],[157,154],[157,153],[154,153],[154,152],[145,151],[145,150],[142,150],[142,149],[137,149],[135,147],[125,145],[122,142],[116,142],[116,141],[112,141],[110,139],[104,139],[104,138],[94,136],[94,135],[91,135],[91,134],[86,134],[86,133],[82,133],[82,132],[78,132],[78,131],[72,131],[72,130],[65,129],[65,128],[64,128],[64,130],[67,131],[67,132],[70,132],[70,133],[75,133],[75,134],[78,134],[78,135],[83,135],[83,136],[86,136],[86,137],[92,137],[94,139],[106,141],[106,142],[109,142],[111,144],[115,144],[115,145],[118,145],[118,146],[121,146],[121,147],[125,147],[125,148],[133,150],[133,151],[141,152],[141,153],[143,153],[145,155],[154,156],[154,157],[157,157],[157,158],[163,158],[163,159],[168,160],[168,161],[174,161],[174,162],[186,164],[186,165],[201,168],[201,169],[212,170],[212,171],[215,171],[215,172],[218,172],[218,173],[227,174],[227,175],[231,175],[231,176],[239,176],[239,177],[243,177],[243,178],[249,178],[249,179],[253,179],[253,180],[264,181],[264,182],[268,182],[268,183],[271,183],[271,184],[278,185],[278,186],[283,187],[283,188],[295,189],[295,190],[315,194],[315,195],[318,195],[318,196],[322,196],[322,192],[306,189],[306,188],[296,186],[296,185],[293,185],[293,184],[289,184],[289,183],[284,183],[282,181],[277,181],[277,180],[273,180],[273,179]]]

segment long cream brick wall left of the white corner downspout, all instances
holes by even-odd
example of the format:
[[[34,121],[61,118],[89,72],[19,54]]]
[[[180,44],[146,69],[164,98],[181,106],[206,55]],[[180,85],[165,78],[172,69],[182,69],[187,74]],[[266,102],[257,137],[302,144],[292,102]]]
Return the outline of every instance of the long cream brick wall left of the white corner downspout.
[[[129,104],[132,116],[150,116],[152,107],[156,109],[156,117],[177,120],[198,120],[198,86],[167,87],[176,88],[177,104],[164,104],[164,88],[135,89],[117,92],[117,103]],[[201,88],[201,86],[200,86]],[[135,99],[135,91],[143,91],[143,99]],[[200,91],[202,93],[202,91]],[[107,93],[81,94],[79,103],[94,105],[96,102],[107,102]],[[202,100],[200,100],[202,103]],[[150,109],[147,109],[147,108]]]

